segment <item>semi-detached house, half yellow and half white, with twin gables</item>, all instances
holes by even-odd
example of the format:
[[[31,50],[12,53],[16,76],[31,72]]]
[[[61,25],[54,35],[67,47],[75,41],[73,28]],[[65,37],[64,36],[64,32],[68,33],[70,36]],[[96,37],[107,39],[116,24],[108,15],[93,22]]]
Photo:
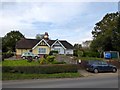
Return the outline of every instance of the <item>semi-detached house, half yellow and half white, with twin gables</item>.
[[[47,35],[47,36],[46,36]],[[58,51],[59,54],[73,55],[73,46],[66,40],[50,40],[48,34],[42,39],[22,38],[16,43],[16,56],[20,58],[24,52],[32,51],[34,54],[49,54],[51,50]]]

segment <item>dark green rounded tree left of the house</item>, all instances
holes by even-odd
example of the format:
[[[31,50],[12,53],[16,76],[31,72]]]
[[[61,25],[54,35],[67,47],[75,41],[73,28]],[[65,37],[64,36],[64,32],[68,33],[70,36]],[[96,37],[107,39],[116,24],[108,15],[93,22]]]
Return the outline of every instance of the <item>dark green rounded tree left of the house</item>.
[[[19,31],[11,31],[2,38],[2,51],[15,52],[16,42],[24,36]]]

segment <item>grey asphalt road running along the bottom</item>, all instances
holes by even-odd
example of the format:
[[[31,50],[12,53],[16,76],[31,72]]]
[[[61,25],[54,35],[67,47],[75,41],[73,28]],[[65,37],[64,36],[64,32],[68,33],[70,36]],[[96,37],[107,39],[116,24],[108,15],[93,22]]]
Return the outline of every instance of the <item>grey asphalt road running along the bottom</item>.
[[[118,75],[82,78],[3,81],[2,88],[118,88]]]

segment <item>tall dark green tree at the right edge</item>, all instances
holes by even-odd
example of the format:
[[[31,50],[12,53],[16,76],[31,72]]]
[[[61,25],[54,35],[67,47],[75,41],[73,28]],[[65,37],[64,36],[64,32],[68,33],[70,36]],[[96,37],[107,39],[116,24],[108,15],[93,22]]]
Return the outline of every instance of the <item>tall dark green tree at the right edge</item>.
[[[94,30],[92,31],[93,41],[91,48],[93,50],[120,51],[120,17],[119,13],[106,14],[103,19],[95,24]]]

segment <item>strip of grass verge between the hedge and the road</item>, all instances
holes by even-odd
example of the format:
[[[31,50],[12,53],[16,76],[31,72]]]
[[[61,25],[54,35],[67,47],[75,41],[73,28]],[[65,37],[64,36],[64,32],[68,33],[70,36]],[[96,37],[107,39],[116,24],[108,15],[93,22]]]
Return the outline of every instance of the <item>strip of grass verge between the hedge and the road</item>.
[[[77,78],[83,77],[80,73],[57,73],[57,74],[19,74],[3,73],[2,80],[23,80],[23,79],[48,79],[48,78]]]

